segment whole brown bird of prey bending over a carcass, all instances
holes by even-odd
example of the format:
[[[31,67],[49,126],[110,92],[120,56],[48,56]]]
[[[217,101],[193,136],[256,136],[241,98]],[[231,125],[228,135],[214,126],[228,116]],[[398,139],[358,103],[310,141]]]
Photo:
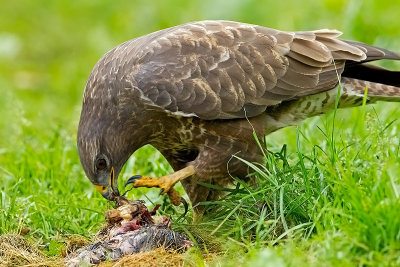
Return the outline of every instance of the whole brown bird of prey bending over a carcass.
[[[200,21],[118,45],[84,91],[77,144],[86,175],[112,199],[122,166],[151,144],[175,172],[128,184],[158,187],[178,205],[173,186],[181,182],[196,205],[219,197],[199,181],[246,179],[247,166],[232,155],[262,160],[253,131],[262,136],[329,112],[337,95],[339,107],[360,105],[366,88],[368,102],[400,101],[400,72],[369,64],[400,55],[340,35]]]

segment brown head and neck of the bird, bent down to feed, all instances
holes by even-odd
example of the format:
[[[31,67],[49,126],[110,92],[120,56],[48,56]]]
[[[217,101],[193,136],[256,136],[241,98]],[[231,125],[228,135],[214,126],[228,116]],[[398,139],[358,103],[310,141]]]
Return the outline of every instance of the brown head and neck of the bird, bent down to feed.
[[[82,167],[109,200],[118,195],[117,179],[125,162],[154,133],[143,93],[130,73],[134,68],[121,63],[130,58],[123,52],[131,50],[117,48],[101,58],[89,76],[77,136]]]

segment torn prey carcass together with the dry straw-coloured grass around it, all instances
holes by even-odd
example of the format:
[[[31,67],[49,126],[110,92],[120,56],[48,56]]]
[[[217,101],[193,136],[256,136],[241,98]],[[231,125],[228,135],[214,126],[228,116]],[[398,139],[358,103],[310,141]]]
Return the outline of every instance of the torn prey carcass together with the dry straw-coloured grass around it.
[[[193,250],[184,253],[193,242],[171,230],[170,219],[153,216],[157,207],[149,211],[143,202],[132,200],[120,204],[106,212],[106,224],[94,239],[72,235],[60,240],[64,243],[60,256],[46,255],[42,244],[30,241],[21,232],[1,235],[0,266],[81,266],[82,262],[100,266],[137,266],[139,262],[140,266],[197,265],[196,254],[202,252],[195,249],[195,254]],[[215,248],[213,238],[192,230],[200,247],[207,243],[208,248]],[[92,261],[92,256],[97,260]],[[74,257],[77,261],[68,261]]]

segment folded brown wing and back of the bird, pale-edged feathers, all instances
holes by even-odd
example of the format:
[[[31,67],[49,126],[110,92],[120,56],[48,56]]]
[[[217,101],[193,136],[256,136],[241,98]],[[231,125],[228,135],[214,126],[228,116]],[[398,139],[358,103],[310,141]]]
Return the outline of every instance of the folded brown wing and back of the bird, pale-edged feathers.
[[[384,55],[339,35],[202,21],[128,41],[98,65],[108,64],[141,91],[143,101],[168,112],[206,120],[252,117],[334,88],[346,60]]]

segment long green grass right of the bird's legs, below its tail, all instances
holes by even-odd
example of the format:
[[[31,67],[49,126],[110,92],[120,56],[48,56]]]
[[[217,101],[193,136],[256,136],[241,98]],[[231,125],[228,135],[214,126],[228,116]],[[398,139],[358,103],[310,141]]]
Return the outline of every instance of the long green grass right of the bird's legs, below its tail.
[[[323,121],[329,125],[332,117]],[[388,134],[393,124],[386,128],[390,122],[371,117],[364,135],[337,129],[335,146],[332,132],[322,128],[325,137],[308,149],[270,148],[278,152],[254,166],[256,186],[238,181],[223,200],[207,203],[215,207],[204,225],[239,241],[249,252],[243,263],[253,259],[248,266],[270,258],[293,266],[398,265],[399,140]],[[298,129],[305,135],[297,138],[301,146],[314,138],[305,132]]]

